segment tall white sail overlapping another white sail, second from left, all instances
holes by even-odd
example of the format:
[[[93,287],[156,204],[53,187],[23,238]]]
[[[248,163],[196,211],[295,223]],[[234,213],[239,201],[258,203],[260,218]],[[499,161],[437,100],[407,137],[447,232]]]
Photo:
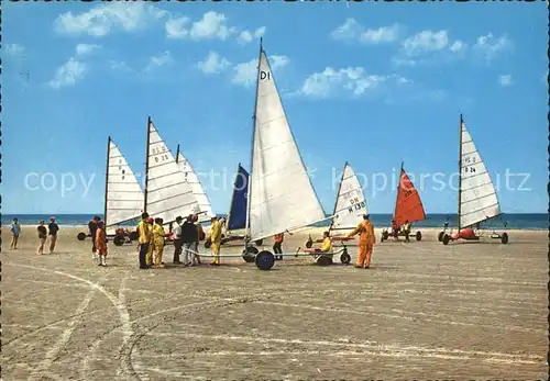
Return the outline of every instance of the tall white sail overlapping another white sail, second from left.
[[[161,138],[153,122],[148,124],[148,169],[146,211],[164,224],[198,212],[198,203],[176,159]]]

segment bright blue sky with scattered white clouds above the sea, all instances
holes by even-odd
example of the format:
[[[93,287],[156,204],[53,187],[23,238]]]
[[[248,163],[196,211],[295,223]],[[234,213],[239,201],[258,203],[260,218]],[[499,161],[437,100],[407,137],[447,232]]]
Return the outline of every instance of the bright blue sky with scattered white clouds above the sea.
[[[226,172],[227,187],[202,179],[227,212],[238,163],[250,169],[261,35],[327,212],[345,160],[369,182],[402,159],[414,181],[457,171],[460,112],[504,212],[547,210],[543,2],[6,3],[3,16],[4,213],[102,211],[107,136],[143,171],[147,115],[198,172]],[[507,169],[529,177],[506,189]],[[32,172],[56,187],[25,187]],[[77,179],[65,194],[63,173]],[[427,213],[455,212],[430,179]],[[392,188],[366,184],[371,212],[393,210]]]

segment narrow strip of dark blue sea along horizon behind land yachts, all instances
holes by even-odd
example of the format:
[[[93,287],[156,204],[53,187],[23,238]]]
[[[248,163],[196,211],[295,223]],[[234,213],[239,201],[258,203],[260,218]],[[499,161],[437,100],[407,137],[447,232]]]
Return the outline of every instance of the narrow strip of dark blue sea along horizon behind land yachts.
[[[59,226],[82,226],[87,225],[88,222],[95,216],[102,214],[56,214],[55,220]],[[50,214],[2,214],[1,222],[3,225],[11,224],[12,220],[16,217],[21,225],[37,225],[41,220],[44,220],[46,224],[52,215]],[[224,214],[218,214],[220,217],[224,217]],[[385,227],[391,224],[392,214],[371,214],[371,221],[375,227]],[[417,227],[442,227],[446,221],[449,221],[449,226],[455,226],[457,214],[428,214],[426,220],[415,223]],[[503,228],[506,224],[506,228],[509,229],[525,229],[525,231],[548,231],[549,229],[549,214],[548,213],[525,213],[525,214],[503,214],[497,218],[487,221],[485,227],[491,228]],[[138,220],[130,221],[125,226],[135,226]],[[330,220],[312,224],[312,226],[328,226]],[[205,224],[207,225],[207,224]]]

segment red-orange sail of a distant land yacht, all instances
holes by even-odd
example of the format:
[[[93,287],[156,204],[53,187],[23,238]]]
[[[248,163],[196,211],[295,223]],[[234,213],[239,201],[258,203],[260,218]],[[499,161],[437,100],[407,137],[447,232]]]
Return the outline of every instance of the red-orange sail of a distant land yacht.
[[[420,195],[403,168],[399,181],[394,213],[397,226],[403,225],[407,220],[413,223],[426,218]]]

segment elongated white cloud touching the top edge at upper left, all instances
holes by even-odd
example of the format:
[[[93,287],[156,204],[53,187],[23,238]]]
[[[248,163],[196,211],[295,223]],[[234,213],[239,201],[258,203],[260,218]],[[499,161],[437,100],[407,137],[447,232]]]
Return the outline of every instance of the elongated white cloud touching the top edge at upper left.
[[[144,2],[113,2],[78,14],[66,12],[57,16],[55,30],[64,34],[106,36],[111,30],[132,32],[157,21],[168,12]]]

